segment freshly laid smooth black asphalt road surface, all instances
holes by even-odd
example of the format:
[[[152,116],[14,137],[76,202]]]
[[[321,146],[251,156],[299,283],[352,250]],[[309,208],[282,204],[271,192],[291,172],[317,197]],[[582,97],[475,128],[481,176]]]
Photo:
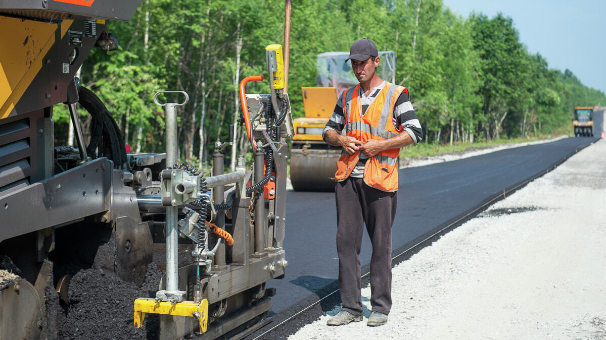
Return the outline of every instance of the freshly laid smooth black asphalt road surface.
[[[513,189],[553,169],[595,140],[567,138],[401,169],[398,212],[392,229],[393,255],[502,195],[504,189]],[[335,287],[338,278],[335,194],[289,191],[286,209],[284,249],[288,267],[284,280],[268,282],[268,287],[277,289],[271,298],[270,316],[307,307],[304,300],[322,298],[322,291]],[[371,244],[365,233],[360,253],[362,273],[368,270],[370,254]]]

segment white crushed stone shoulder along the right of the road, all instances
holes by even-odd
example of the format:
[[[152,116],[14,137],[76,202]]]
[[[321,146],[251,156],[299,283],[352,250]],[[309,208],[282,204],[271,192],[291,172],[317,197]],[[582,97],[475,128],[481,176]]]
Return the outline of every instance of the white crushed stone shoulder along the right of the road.
[[[364,321],[289,339],[606,339],[605,203],[601,140],[394,267],[386,325],[365,287]]]

